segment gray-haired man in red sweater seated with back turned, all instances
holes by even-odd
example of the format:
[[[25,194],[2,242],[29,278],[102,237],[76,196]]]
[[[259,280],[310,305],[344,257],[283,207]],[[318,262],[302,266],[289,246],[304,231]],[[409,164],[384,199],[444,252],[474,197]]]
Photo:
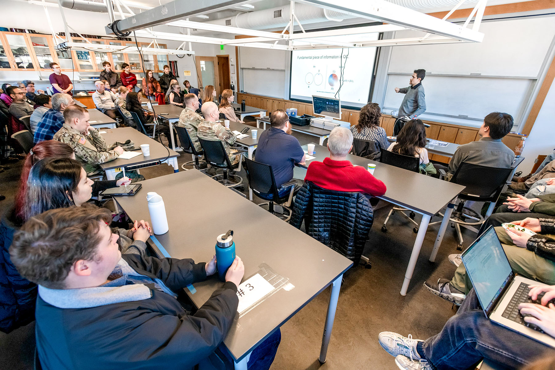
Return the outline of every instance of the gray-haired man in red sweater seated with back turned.
[[[361,166],[347,160],[352,148],[351,130],[336,127],[327,139],[330,158],[314,161],[306,170],[305,181],[335,191],[360,191],[374,196],[384,195],[386,186]]]

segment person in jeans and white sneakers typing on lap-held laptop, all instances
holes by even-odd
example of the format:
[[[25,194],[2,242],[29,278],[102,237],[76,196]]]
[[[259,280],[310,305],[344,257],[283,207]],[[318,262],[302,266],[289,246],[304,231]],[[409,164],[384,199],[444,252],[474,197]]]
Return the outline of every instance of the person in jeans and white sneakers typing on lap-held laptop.
[[[379,334],[380,345],[395,356],[397,366],[467,369],[486,358],[517,368],[554,354],[555,286],[516,275],[492,227],[461,258],[474,287],[440,333],[426,341]]]

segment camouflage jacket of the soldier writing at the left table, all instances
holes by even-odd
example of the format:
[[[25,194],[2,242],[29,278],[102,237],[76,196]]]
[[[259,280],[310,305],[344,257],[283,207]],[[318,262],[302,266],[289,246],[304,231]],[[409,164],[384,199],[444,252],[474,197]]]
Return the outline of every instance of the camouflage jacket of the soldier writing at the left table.
[[[95,128],[90,128],[89,134],[83,135],[64,123],[62,128],[54,134],[53,140],[71,146],[75,152],[75,158],[83,164],[87,174],[99,171],[98,164],[118,158],[118,153],[115,153],[114,150],[108,150],[106,141]]]

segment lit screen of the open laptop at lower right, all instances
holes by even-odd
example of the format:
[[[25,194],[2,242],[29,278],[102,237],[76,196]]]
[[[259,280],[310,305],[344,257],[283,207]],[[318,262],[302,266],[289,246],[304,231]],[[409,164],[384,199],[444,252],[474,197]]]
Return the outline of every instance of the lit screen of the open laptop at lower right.
[[[493,227],[489,227],[462,253],[468,277],[488,316],[514,273]]]

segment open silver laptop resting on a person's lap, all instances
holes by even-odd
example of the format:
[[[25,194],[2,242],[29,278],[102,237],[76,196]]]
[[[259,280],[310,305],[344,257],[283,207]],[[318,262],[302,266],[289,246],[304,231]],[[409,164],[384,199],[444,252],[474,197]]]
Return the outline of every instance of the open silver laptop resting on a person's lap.
[[[462,252],[461,257],[487,318],[538,342],[555,347],[555,338],[537,326],[526,323],[518,311],[521,302],[537,302],[529,298],[528,285],[540,283],[517,276],[513,272],[492,226]]]

